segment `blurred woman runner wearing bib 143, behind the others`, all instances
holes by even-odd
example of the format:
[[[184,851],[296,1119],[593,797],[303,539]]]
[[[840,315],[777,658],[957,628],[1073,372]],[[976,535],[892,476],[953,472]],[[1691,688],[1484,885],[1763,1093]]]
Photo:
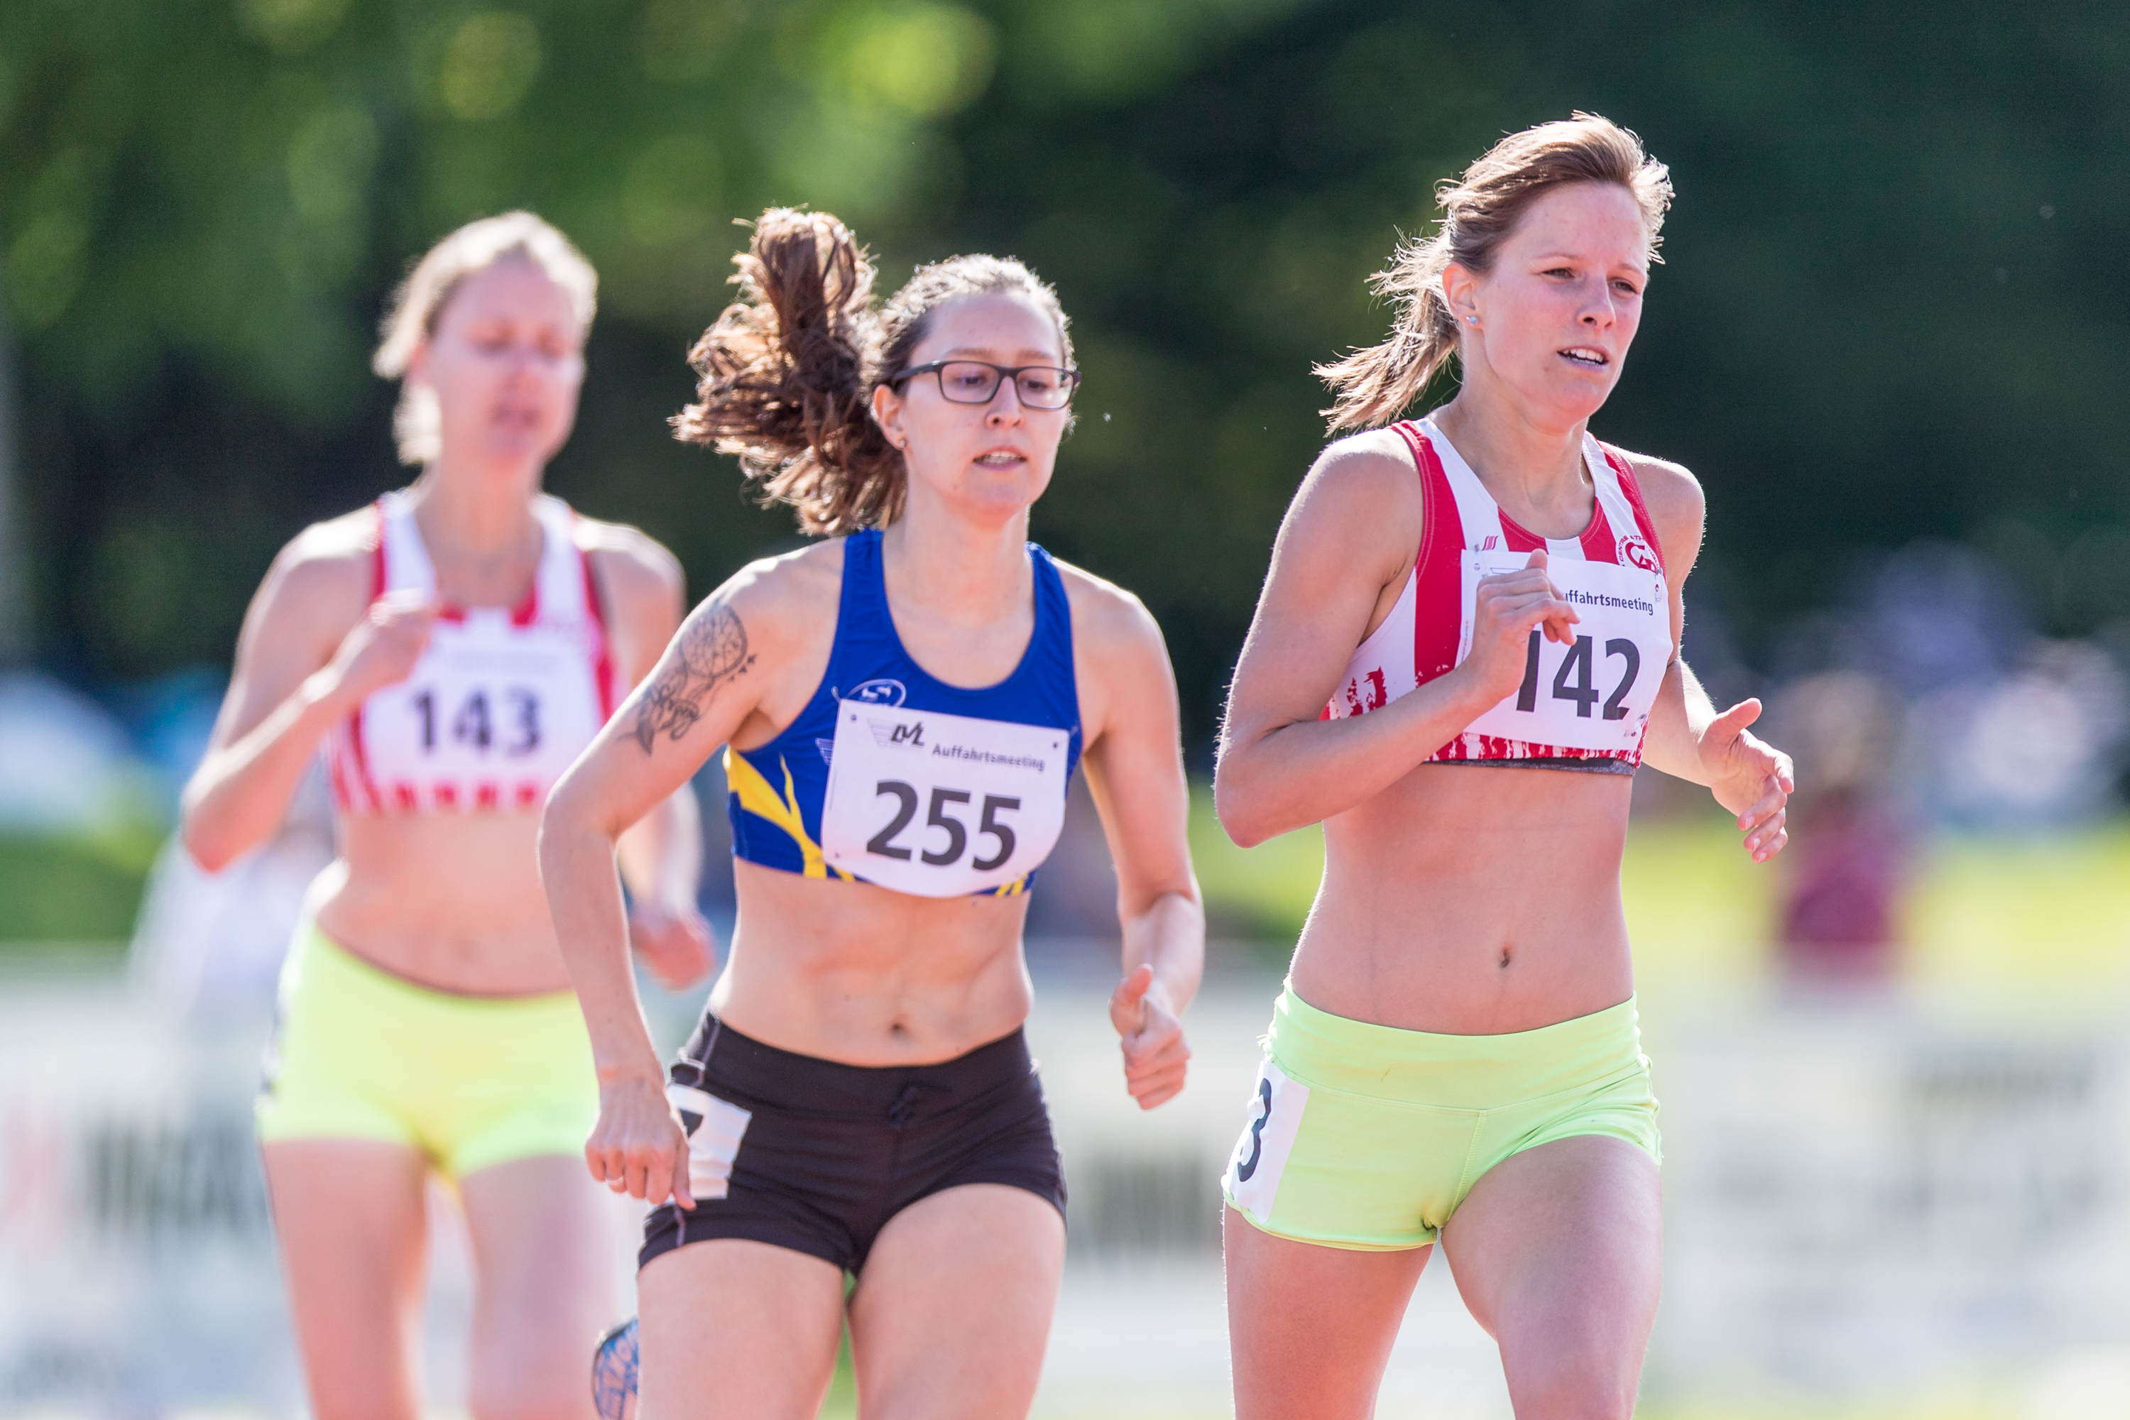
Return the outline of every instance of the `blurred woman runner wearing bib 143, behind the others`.
[[[590,1414],[611,1243],[575,1154],[599,1101],[535,839],[682,611],[662,547],[539,490],[577,413],[594,281],[528,213],[422,258],[375,362],[403,377],[400,456],[422,473],[275,560],[185,790],[185,845],[217,871],[273,835],[326,745],[341,856],[290,947],[258,1105],[320,1420],[422,1414],[430,1169],[473,1237],[473,1414]],[[637,945],[675,984],[701,975],[684,786],[624,858]]]

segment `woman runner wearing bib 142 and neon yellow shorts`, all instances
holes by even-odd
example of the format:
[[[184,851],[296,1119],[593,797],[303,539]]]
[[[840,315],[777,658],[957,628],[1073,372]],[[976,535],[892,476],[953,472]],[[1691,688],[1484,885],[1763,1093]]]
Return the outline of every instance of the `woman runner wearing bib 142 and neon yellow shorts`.
[[[1657,1105],[1619,860],[1649,758],[1755,862],[1789,758],[1678,660],[1702,494],[1587,424],[1619,381],[1670,202],[1591,115],[1512,134],[1378,290],[1397,330],[1325,370],[1235,673],[1218,809],[1323,822],[1250,1118],[1223,1179],[1238,1416],[1367,1416],[1442,1241],[1521,1420],[1634,1405],[1657,1307]],[[1463,383],[1391,424],[1436,368]],[[1472,773],[1474,769],[1482,773]]]

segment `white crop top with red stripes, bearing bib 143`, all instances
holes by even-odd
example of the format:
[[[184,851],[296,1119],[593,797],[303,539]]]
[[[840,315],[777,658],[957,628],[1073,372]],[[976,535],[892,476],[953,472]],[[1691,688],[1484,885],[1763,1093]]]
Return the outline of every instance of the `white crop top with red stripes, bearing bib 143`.
[[[569,505],[541,494],[541,558],[518,607],[445,607],[413,673],[373,692],[326,741],[347,813],[524,811],[620,703],[620,681]],[[405,492],[377,500],[373,596],[437,590]]]

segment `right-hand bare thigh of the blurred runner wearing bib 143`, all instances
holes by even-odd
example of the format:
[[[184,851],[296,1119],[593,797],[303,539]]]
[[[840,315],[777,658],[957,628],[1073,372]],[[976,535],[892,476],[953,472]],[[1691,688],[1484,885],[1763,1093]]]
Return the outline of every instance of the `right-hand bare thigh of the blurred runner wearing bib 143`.
[[[581,1158],[541,1154],[469,1173],[458,1196],[473,1239],[475,1418],[590,1420],[620,1245],[599,1184]]]

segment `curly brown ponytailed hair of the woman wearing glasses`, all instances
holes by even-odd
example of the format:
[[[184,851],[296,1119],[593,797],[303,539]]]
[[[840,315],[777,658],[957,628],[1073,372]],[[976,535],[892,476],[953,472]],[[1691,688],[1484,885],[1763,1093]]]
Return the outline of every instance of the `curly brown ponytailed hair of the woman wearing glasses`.
[[[1027,296],[1056,324],[1071,364],[1065,311],[1050,285],[1012,258],[954,255],[918,266],[873,309],[873,264],[829,213],[773,207],[733,258],[739,300],[688,351],[697,402],[673,436],[739,458],[763,505],[788,502],[818,534],[880,528],[903,513],[901,451],[873,424],[873,390],[910,364],[933,311],[958,296]]]

